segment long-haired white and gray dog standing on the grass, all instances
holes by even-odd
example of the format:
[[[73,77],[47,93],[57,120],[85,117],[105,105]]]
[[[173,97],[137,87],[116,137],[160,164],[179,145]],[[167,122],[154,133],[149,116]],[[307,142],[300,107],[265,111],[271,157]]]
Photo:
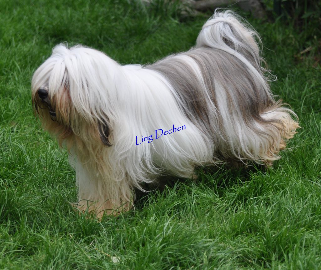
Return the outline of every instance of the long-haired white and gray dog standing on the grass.
[[[204,24],[195,47],[152,65],[56,46],[33,75],[32,100],[44,129],[69,152],[78,207],[113,215],[160,175],[279,159],[298,123],[270,91],[260,42],[226,11]]]

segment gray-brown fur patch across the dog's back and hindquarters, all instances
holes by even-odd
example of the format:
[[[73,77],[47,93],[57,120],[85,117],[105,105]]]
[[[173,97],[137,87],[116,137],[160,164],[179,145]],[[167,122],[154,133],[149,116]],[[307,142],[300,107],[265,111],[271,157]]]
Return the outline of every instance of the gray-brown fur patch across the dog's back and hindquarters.
[[[180,56],[194,60],[201,77]],[[224,91],[231,124],[244,122],[257,130],[255,122],[268,124],[260,115],[274,107],[275,102],[267,94],[269,86],[262,85],[247,66],[237,57],[220,49],[202,47],[171,55],[145,68],[162,74],[176,91],[182,110],[189,120],[209,135],[226,137],[220,113],[217,91]],[[220,87],[217,87],[220,86]],[[268,89],[268,91],[266,91]]]

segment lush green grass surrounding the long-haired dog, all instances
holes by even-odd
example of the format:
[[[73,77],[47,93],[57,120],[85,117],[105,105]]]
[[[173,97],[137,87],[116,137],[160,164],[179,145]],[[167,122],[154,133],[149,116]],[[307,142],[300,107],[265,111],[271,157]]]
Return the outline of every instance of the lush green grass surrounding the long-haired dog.
[[[200,173],[101,222],[69,205],[75,174],[33,116],[32,74],[64,41],[120,63],[151,63],[193,46],[209,16],[179,18],[175,4],[163,8],[0,2],[0,269],[321,269],[321,35],[291,21],[248,17],[278,76],[272,90],[302,127],[272,168]]]

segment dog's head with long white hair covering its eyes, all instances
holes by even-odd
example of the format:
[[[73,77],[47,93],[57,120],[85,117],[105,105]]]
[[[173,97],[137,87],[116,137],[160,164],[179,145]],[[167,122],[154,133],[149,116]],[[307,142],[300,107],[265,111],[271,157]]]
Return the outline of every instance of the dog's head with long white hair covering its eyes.
[[[60,142],[76,136],[111,146],[115,91],[108,90],[114,75],[108,71],[117,65],[91,48],[56,46],[32,78],[33,108],[44,129]]]

